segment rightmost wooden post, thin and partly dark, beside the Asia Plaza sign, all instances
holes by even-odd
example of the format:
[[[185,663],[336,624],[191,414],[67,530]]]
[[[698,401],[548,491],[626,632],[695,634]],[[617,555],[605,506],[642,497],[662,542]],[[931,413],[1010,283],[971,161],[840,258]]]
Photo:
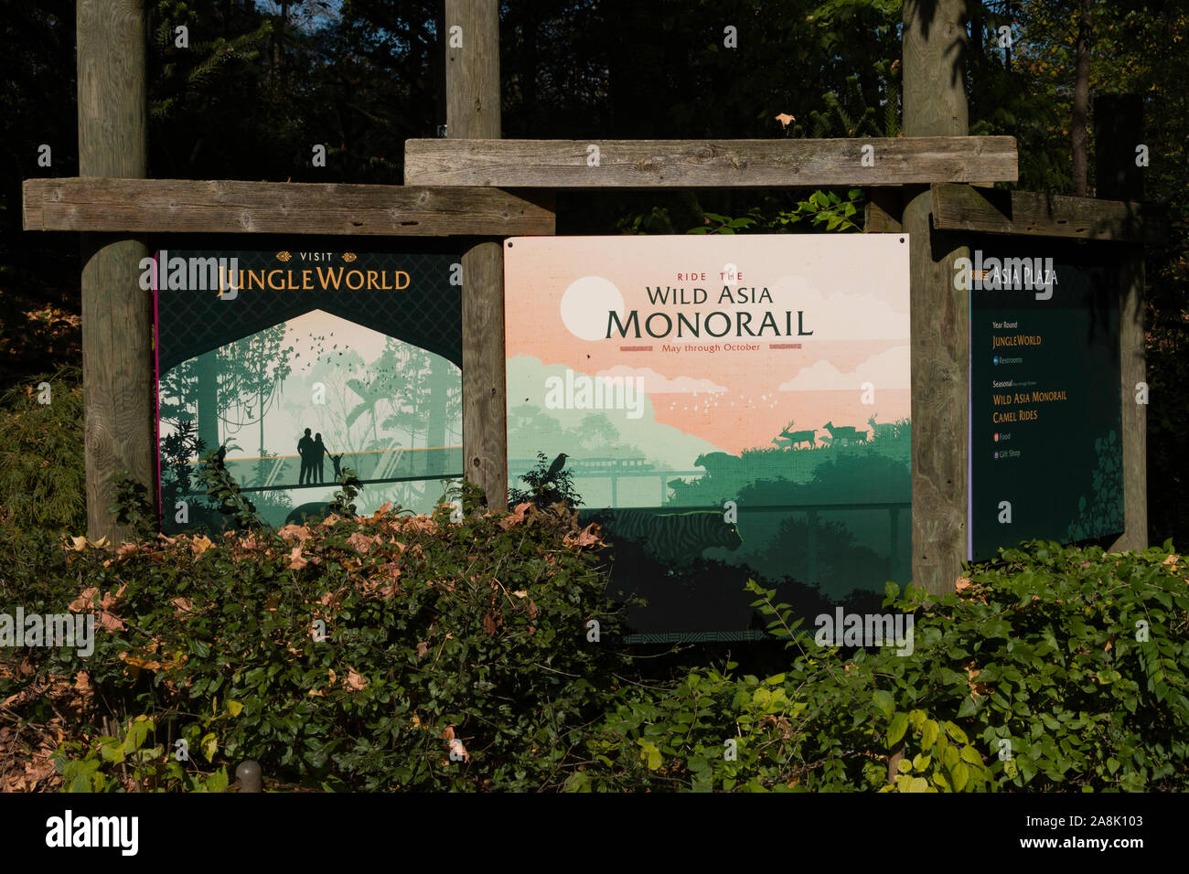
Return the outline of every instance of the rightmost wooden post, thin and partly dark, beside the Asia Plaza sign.
[[[1095,196],[1139,203],[1144,176],[1137,146],[1144,144],[1144,102],[1138,94],[1102,94],[1094,101]],[[1138,224],[1138,218],[1137,218]],[[1138,403],[1144,364],[1144,246],[1120,243],[1119,370],[1122,381],[1124,533],[1114,549],[1147,548],[1147,405]]]

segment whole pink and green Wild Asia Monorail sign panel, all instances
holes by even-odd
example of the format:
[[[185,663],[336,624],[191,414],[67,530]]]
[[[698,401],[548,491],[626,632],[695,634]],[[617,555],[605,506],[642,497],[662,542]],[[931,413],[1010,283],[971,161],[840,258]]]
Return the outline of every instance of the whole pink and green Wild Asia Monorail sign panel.
[[[644,639],[760,636],[749,577],[811,617],[907,579],[906,239],[507,241],[509,485],[565,453]]]

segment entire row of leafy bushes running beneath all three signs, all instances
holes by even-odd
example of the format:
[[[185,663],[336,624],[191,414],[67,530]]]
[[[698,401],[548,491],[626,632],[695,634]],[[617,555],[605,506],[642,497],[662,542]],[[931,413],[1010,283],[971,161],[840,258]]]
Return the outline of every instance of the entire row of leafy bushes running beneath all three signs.
[[[1189,788],[1189,581],[1171,543],[1034,542],[944,597],[889,584],[885,610],[914,621],[905,655],[820,646],[753,583],[779,672],[686,661],[668,681],[615,645],[596,527],[531,503],[480,515],[463,493],[461,522],[332,515],[114,554],[0,527],[0,611],[94,609],[103,629],[88,659],[18,650],[27,671],[0,672],[0,699],[49,722],[38,690],[81,673],[93,706],[58,767],[96,791],[209,790],[247,757],[328,790]],[[174,763],[174,738],[191,762]]]

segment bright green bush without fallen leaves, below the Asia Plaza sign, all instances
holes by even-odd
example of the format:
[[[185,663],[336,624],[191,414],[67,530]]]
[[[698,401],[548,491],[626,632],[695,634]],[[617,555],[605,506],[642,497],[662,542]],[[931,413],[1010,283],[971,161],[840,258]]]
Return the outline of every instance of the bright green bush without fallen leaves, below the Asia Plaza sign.
[[[888,584],[885,606],[914,617],[902,656],[818,646],[751,584],[788,669],[636,693],[567,788],[1184,791],[1189,585],[1171,548],[1036,542],[942,598]]]

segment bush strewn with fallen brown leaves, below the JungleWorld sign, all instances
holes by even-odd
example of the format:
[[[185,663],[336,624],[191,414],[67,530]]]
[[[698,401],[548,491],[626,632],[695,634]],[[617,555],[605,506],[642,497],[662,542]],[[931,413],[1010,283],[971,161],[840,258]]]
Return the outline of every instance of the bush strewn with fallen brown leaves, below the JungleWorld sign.
[[[213,763],[251,757],[331,790],[560,785],[627,666],[592,567],[598,540],[566,513],[522,505],[452,523],[449,509],[331,516],[219,545],[161,536],[115,554],[10,532],[0,610],[94,609],[105,630],[90,658],[19,652],[33,673],[0,680],[0,698],[86,672],[121,723],[145,715]],[[37,698],[26,716],[49,706]],[[63,754],[99,762],[113,744]],[[69,785],[111,786],[82,767],[63,771]]]

